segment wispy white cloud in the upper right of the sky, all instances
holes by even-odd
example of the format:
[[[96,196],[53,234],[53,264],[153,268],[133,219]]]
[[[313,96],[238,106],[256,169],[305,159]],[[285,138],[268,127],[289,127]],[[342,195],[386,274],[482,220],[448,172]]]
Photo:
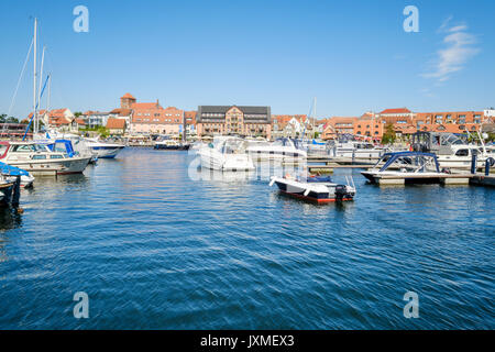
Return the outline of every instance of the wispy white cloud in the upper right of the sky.
[[[475,46],[476,37],[468,33],[468,25],[460,24],[448,28],[450,20],[451,18],[440,26],[440,31],[446,34],[443,37],[446,47],[437,52],[432,72],[422,75],[427,78],[435,78],[438,82],[448,80],[453,73],[463,69],[465,64],[480,53],[480,48]]]

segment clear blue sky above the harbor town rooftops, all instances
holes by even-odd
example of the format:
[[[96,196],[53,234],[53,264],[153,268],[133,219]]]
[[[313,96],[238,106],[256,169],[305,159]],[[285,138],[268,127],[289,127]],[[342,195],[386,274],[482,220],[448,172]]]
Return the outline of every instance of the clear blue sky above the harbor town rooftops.
[[[73,9],[89,10],[89,32]],[[419,32],[406,33],[406,6]],[[125,92],[186,110],[268,105],[359,116],[495,106],[495,1],[1,1],[0,113],[40,20],[52,108],[110,110]],[[32,106],[32,63],[11,114]],[[45,102],[42,102],[42,108]]]

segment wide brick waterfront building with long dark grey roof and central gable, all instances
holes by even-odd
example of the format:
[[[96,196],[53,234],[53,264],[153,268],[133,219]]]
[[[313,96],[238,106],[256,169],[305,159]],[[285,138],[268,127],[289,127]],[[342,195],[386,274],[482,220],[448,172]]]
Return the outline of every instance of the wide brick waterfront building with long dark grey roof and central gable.
[[[196,114],[198,136],[238,134],[272,138],[270,107],[199,106]]]

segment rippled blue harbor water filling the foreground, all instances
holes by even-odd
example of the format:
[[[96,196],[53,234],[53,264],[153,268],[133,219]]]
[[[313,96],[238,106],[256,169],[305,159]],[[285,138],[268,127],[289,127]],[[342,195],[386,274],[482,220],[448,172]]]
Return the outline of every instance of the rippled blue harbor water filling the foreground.
[[[337,169],[355,200],[315,206],[266,179],[191,179],[194,160],[130,147],[22,190],[24,212],[0,212],[0,328],[495,328],[493,188]]]

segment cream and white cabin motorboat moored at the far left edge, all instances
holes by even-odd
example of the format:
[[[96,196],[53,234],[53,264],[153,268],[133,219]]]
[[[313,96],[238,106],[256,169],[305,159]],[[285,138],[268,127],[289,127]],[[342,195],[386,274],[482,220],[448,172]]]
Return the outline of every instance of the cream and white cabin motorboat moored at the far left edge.
[[[35,142],[0,142],[0,161],[32,174],[79,174],[85,170],[90,158],[51,151],[46,145]]]

